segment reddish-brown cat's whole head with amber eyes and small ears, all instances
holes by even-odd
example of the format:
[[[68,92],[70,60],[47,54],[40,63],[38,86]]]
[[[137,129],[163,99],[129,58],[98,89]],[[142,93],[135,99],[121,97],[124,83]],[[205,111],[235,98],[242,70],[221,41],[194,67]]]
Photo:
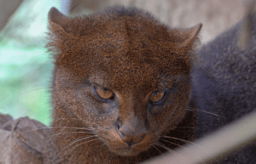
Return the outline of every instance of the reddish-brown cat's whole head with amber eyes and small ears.
[[[135,156],[183,120],[201,24],[170,29],[137,8],[114,7],[84,18],[51,8],[49,25],[53,122],[65,113],[109,150]]]

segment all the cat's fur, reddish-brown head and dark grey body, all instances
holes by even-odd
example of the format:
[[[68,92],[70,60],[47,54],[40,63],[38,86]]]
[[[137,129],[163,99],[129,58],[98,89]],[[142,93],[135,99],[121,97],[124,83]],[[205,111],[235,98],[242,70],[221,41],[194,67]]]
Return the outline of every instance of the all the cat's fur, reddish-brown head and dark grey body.
[[[78,19],[51,8],[54,136],[45,163],[137,163],[183,144],[178,139],[200,138],[253,111],[255,14],[250,21],[245,50],[237,47],[241,21],[204,45],[195,62],[201,25],[170,29],[137,8],[107,8]],[[114,99],[102,101],[94,87],[111,89]],[[160,105],[148,101],[154,90],[166,92]],[[137,144],[120,138],[122,127]],[[255,156],[250,144],[212,162],[253,164]]]

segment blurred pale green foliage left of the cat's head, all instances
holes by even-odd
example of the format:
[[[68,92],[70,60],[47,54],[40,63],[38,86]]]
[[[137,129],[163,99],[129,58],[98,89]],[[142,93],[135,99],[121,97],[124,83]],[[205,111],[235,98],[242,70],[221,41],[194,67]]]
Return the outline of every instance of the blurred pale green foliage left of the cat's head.
[[[49,126],[53,64],[44,48],[51,0],[27,0],[0,33],[0,113]]]

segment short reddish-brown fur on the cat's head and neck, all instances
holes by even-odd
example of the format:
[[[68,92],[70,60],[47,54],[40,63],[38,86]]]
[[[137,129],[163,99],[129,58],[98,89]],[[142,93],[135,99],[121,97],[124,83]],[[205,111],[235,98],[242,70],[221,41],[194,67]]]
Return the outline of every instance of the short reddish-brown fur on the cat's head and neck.
[[[156,142],[173,149],[194,138],[193,128],[178,127],[196,126],[186,109],[201,24],[170,29],[137,8],[114,7],[75,19],[51,8],[49,25],[55,136],[45,163],[137,163],[165,151]],[[111,89],[114,99],[99,99],[94,87]],[[148,101],[155,90],[166,92],[160,105]],[[141,141],[129,147],[121,127]]]

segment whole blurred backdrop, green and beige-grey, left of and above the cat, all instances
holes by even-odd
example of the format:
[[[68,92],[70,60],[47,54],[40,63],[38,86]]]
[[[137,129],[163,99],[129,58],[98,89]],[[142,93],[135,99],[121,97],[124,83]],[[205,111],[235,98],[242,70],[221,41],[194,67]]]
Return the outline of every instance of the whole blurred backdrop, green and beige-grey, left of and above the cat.
[[[0,1],[0,113],[29,116],[49,125],[53,64],[44,48],[47,14],[55,6],[71,17],[107,6],[142,8],[172,27],[202,23],[201,42],[235,25],[245,0],[2,0]]]

